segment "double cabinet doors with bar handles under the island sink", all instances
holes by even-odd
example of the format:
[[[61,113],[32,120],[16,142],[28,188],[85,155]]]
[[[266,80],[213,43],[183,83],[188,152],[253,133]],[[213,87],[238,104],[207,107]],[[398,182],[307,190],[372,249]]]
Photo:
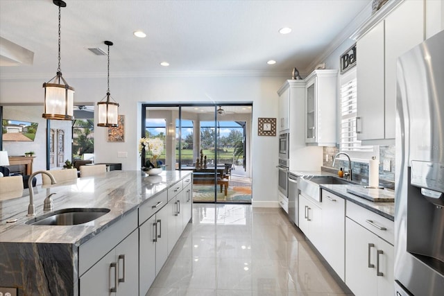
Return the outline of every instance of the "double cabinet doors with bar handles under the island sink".
[[[137,230],[80,277],[80,295],[137,295]]]

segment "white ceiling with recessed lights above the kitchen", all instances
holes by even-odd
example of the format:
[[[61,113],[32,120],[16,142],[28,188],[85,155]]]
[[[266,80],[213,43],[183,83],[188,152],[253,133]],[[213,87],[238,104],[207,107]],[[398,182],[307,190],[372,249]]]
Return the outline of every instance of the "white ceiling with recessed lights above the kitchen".
[[[87,50],[107,51],[105,40],[114,42],[111,76],[291,75],[293,67],[305,73],[371,0],[66,2],[61,69],[69,78],[106,76],[106,56]],[[284,26],[293,31],[278,33]],[[137,30],[147,37],[135,37]],[[0,78],[56,75],[52,0],[0,0],[0,37],[34,53],[32,66],[0,67]],[[266,64],[271,59],[277,64]]]

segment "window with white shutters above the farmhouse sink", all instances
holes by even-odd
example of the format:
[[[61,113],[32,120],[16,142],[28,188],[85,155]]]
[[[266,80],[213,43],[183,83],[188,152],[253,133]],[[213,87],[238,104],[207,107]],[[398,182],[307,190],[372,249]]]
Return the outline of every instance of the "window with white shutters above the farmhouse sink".
[[[357,138],[357,78],[356,69],[352,69],[341,76],[341,143],[340,149],[345,153],[352,153],[357,158],[368,158],[367,153],[374,154],[373,146],[361,146]]]

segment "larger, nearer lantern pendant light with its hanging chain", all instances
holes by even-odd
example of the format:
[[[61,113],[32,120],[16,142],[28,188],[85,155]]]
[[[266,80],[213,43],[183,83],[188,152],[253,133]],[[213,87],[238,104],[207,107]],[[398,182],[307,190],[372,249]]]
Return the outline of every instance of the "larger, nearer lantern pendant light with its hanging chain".
[[[57,75],[43,84],[44,113],[42,117],[72,121],[74,119],[74,88],[68,85],[60,70],[60,10],[66,7],[67,3],[62,0],[53,0],[53,3],[58,6],[58,69]],[[60,84],[60,80],[63,84]]]

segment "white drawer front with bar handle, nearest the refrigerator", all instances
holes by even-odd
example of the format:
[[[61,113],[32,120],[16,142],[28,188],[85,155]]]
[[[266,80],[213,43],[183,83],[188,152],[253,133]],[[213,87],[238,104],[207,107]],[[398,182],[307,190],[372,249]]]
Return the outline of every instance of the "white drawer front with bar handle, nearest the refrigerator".
[[[393,221],[349,201],[346,204],[346,216],[394,245],[395,225]]]

